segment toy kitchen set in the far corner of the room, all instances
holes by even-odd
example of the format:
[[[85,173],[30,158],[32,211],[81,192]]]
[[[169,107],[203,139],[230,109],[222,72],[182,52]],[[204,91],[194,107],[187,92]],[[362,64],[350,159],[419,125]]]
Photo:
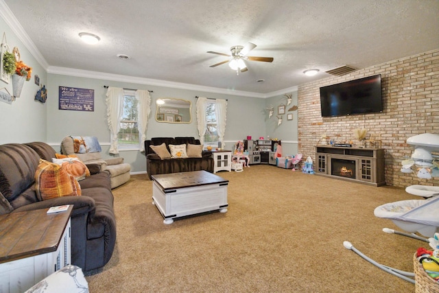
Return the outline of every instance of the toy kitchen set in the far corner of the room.
[[[259,139],[255,140],[252,140],[251,137],[247,137],[247,139],[244,140],[244,149],[248,152],[250,165],[276,165],[274,154],[280,142],[281,141],[278,140],[263,139],[263,137],[259,137]]]

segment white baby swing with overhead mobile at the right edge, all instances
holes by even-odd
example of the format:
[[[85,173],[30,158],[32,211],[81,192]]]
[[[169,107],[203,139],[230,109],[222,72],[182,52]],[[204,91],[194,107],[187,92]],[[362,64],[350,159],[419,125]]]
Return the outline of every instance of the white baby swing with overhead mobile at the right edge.
[[[414,164],[416,166],[429,166],[434,164],[434,158],[431,152],[439,152],[439,135],[438,134],[419,134],[407,139],[407,143],[416,145],[415,152],[412,155]],[[422,154],[421,156],[419,154]],[[407,161],[407,160],[406,160]],[[407,162],[403,163],[403,170],[407,173]],[[410,165],[411,167],[411,165]],[[404,172],[404,171],[403,171]],[[420,175],[418,174],[420,177]],[[424,178],[424,177],[420,177]],[[377,207],[374,211],[375,216],[378,218],[386,218],[392,220],[392,222],[399,228],[409,233],[394,231],[390,228],[383,228],[385,233],[394,233],[411,237],[414,239],[422,240],[429,243],[429,239],[425,237],[434,237],[436,232],[439,232],[439,187],[435,186],[423,186],[412,185],[405,189],[409,194],[415,196],[422,196],[425,200],[401,200],[398,202],[390,202]],[[425,237],[420,237],[414,233],[420,233]],[[345,248],[353,250],[357,255],[366,259],[373,265],[381,268],[385,272],[393,274],[396,277],[415,283],[414,272],[405,272],[396,268],[385,266],[370,257],[357,250],[351,242],[343,242]]]

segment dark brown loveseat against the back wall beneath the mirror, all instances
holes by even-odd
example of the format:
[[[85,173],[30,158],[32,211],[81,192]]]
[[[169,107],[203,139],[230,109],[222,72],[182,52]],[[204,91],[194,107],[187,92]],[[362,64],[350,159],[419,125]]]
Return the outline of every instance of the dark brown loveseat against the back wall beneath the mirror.
[[[200,145],[200,140],[194,137],[153,137],[145,141],[146,155],[146,172],[151,179],[155,174],[169,174],[178,172],[190,172],[205,170],[213,172],[213,158],[209,151],[203,151],[201,158],[185,158],[185,159],[160,159],[151,148],[150,145],[166,144],[169,152],[169,145],[193,144]]]

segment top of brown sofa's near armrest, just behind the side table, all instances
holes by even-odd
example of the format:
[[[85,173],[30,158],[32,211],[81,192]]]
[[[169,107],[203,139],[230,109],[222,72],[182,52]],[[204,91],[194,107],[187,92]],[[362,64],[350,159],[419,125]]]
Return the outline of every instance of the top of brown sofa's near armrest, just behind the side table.
[[[64,204],[73,204],[73,215],[82,215],[95,210],[95,200],[88,196],[61,196],[60,198],[51,198],[32,204],[25,204],[18,209],[14,209],[12,213],[19,211],[33,211],[36,209],[49,209],[49,207],[56,207]]]

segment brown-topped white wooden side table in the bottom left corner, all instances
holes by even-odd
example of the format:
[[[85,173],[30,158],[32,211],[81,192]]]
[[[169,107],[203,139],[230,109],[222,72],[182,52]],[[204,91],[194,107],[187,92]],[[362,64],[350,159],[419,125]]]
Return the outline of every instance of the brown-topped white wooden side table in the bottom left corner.
[[[47,209],[0,215],[0,288],[24,292],[71,263],[70,215]]]

